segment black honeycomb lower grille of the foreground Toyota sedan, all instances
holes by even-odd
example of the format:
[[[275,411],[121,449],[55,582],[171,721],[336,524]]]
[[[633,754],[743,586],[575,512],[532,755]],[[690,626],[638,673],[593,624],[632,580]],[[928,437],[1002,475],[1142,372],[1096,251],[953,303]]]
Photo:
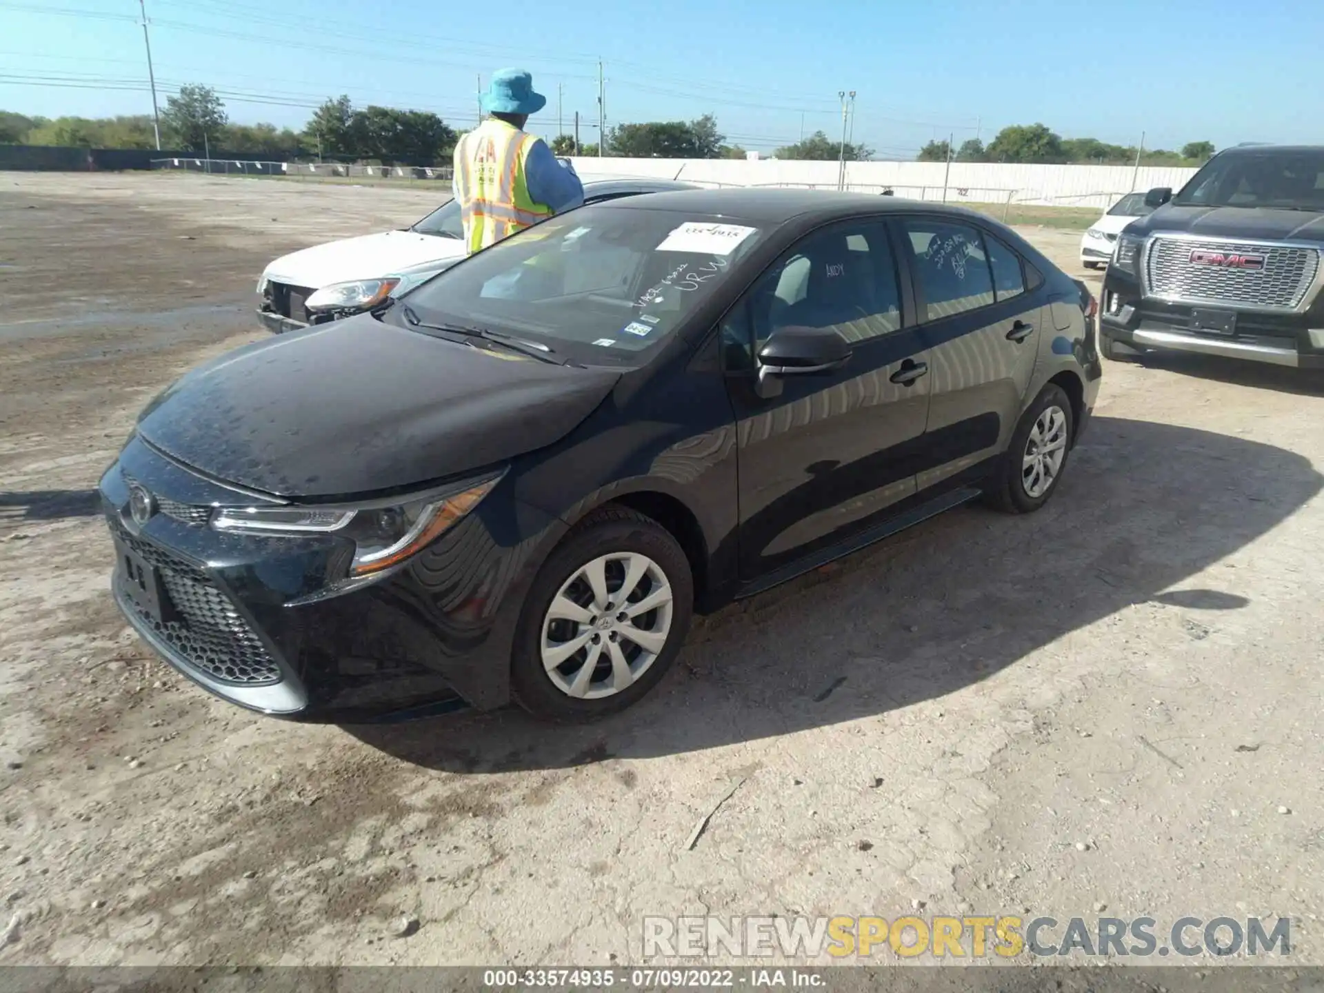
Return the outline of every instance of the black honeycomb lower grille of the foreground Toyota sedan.
[[[173,649],[192,669],[221,683],[236,686],[270,686],[281,682],[275,659],[262,646],[261,638],[244,620],[211,577],[195,565],[128,534],[115,520],[110,523],[115,538],[160,573],[175,616],[158,621],[138,609],[131,600],[123,602],[156,637]],[[123,581],[123,571],[115,571]]]

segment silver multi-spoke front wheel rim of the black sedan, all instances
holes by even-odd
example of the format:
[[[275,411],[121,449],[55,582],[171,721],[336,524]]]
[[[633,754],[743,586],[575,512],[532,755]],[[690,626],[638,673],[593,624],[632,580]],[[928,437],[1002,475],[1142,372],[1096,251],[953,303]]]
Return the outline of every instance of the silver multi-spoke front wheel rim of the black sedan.
[[[598,556],[576,569],[547,608],[543,669],[567,696],[614,696],[657,661],[673,613],[671,584],[653,559]]]

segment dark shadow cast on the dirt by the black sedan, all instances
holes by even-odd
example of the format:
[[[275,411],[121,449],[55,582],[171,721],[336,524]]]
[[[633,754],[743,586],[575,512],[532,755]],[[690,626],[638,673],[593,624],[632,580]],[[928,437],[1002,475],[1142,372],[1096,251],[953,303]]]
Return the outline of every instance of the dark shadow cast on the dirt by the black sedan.
[[[1270,445],[1096,417],[1038,514],[961,508],[703,618],[667,678],[622,714],[552,726],[508,707],[344,730],[408,763],[481,773],[698,753],[882,715],[1132,604],[1246,606],[1235,569],[1200,573],[1320,483],[1308,459]]]

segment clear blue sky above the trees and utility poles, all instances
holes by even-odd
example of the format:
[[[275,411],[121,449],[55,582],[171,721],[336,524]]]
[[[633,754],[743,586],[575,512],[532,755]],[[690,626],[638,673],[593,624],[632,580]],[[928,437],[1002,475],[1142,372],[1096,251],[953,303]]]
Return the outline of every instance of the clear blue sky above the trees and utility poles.
[[[1324,3],[1259,0],[147,0],[158,89],[201,82],[230,119],[299,127],[312,105],[434,110],[473,122],[477,75],[519,65],[549,98],[531,130],[712,113],[732,143],[841,135],[912,158],[931,138],[1012,123],[1180,148],[1324,142]],[[510,25],[502,33],[499,25]],[[138,0],[0,0],[0,110],[151,110]]]

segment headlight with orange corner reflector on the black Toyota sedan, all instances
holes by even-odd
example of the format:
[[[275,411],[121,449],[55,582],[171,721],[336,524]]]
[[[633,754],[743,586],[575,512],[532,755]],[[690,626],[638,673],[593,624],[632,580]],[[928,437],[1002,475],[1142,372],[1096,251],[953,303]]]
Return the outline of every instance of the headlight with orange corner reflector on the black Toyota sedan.
[[[489,477],[462,489],[401,503],[361,507],[221,507],[217,531],[263,535],[336,534],[354,542],[350,576],[372,576],[420,552],[478,506],[500,479]]]

